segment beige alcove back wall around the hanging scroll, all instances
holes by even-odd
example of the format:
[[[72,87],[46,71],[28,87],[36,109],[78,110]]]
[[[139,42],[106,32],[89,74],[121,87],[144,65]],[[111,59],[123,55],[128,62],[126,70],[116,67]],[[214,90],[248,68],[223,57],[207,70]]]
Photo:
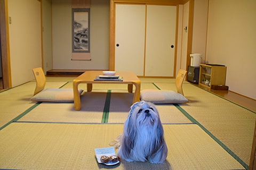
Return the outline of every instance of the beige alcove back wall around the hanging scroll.
[[[109,1],[91,1],[91,61],[71,61],[71,42],[71,0],[52,0],[53,69],[108,70]]]

